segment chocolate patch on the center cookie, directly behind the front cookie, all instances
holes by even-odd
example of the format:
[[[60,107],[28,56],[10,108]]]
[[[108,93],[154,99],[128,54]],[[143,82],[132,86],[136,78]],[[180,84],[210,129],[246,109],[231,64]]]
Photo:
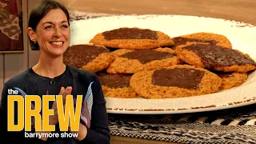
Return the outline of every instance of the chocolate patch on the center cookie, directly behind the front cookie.
[[[132,52],[122,54],[122,58],[138,59],[139,62],[145,64],[155,60],[162,60],[173,57],[174,54],[157,50],[134,50]]]

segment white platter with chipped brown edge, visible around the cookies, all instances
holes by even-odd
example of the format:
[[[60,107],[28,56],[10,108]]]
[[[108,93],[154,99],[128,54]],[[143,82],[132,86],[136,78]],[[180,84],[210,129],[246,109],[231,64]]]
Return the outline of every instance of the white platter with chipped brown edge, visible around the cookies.
[[[87,44],[95,34],[120,27],[159,30],[171,38],[196,32],[223,34],[230,39],[234,49],[256,59],[256,26],[222,18],[185,15],[122,15],[73,21],[70,22],[70,45]],[[182,114],[223,110],[254,103],[256,71],[241,86],[214,94],[164,99],[106,97],[107,112],[112,114]]]

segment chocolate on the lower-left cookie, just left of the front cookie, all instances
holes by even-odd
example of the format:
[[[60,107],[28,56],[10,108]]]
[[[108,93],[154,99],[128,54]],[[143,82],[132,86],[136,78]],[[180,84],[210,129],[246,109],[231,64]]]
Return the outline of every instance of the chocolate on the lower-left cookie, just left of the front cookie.
[[[98,74],[102,86],[110,88],[122,88],[130,86],[130,77],[128,74]]]

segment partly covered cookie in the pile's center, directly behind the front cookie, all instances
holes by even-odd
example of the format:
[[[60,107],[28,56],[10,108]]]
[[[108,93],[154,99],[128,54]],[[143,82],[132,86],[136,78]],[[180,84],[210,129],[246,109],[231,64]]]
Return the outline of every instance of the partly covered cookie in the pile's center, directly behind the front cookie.
[[[109,74],[134,74],[141,70],[155,70],[181,64],[182,61],[169,48],[154,50],[126,50],[112,52],[114,61],[106,69]]]

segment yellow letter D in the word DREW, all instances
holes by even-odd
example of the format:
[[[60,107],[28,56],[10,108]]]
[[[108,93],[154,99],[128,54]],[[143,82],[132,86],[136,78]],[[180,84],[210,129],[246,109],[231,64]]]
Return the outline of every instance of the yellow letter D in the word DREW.
[[[14,101],[18,102],[18,124],[14,125]],[[8,131],[21,131],[24,128],[24,98],[22,95],[8,95]]]

